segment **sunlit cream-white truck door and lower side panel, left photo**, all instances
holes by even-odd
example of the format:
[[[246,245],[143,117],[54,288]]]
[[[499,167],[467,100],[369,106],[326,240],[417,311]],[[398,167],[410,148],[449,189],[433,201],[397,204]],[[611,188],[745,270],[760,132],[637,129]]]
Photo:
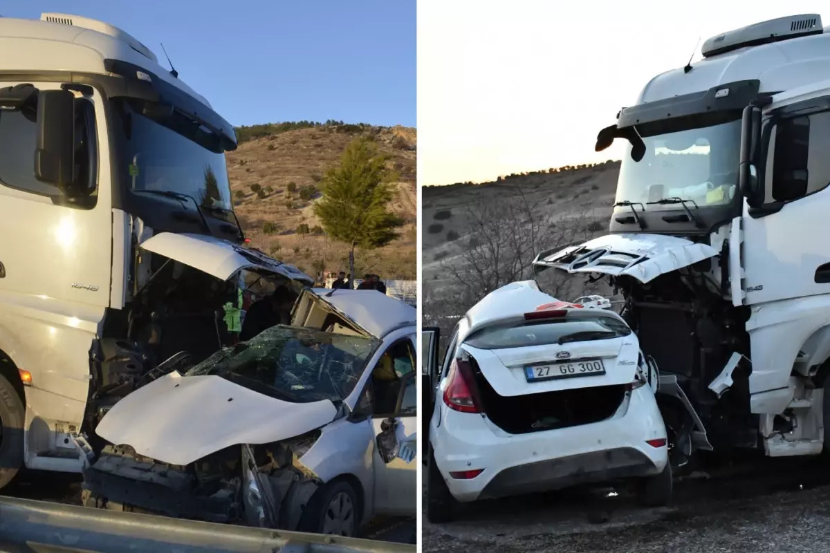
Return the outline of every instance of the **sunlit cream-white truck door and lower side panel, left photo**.
[[[123,256],[123,242],[113,246],[104,100],[91,87],[73,90],[76,184],[85,193],[69,197],[34,172],[37,104],[61,83],[27,82],[38,95],[17,107],[22,87],[0,83],[0,349],[32,374],[29,421],[66,421],[71,431],[82,420],[90,345],[110,305],[112,258]]]

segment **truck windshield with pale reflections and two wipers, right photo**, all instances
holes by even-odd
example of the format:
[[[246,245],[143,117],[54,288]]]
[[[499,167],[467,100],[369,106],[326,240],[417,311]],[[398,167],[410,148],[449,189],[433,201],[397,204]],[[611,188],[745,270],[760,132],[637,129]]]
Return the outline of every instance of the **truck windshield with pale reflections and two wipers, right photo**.
[[[627,145],[616,202],[646,204],[674,197],[699,207],[730,203],[738,185],[740,126],[739,114],[737,120],[671,133],[649,135],[649,129],[638,128],[646,155],[635,162]],[[661,209],[684,208],[678,202]]]

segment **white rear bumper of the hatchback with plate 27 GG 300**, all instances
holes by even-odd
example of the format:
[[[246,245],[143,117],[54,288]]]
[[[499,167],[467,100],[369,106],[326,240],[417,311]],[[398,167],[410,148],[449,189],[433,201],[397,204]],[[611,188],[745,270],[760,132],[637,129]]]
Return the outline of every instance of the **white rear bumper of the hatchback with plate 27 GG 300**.
[[[646,443],[666,438],[654,395],[643,387],[627,404],[608,420],[529,434],[507,434],[486,416],[441,404],[430,431],[435,463],[461,502],[660,473],[667,448]],[[475,478],[450,475],[477,469]]]

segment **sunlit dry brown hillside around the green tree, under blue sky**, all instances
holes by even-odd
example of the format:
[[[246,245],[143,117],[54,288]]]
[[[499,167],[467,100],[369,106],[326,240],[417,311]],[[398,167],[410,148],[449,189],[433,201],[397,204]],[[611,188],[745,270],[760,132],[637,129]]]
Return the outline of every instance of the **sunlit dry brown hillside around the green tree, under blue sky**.
[[[346,145],[359,135],[373,138],[380,151],[390,155],[389,165],[400,175],[392,210],[406,223],[391,245],[358,250],[355,269],[384,279],[415,278],[417,137],[415,129],[405,127],[325,124],[241,141],[237,150],[227,153],[227,167],[234,209],[251,246],[309,274],[321,268],[348,270],[348,248],[325,236],[312,205],[320,198],[326,167],[339,163]],[[308,234],[302,233],[303,225]]]

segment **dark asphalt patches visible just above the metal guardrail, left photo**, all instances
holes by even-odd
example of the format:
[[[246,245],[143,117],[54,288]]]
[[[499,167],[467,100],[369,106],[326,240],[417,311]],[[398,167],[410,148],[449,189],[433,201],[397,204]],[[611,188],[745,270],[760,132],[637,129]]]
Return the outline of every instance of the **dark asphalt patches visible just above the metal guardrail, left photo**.
[[[40,501],[81,504],[81,477],[63,473],[21,473],[2,495],[23,497]],[[361,537],[369,540],[413,543],[416,533],[415,519],[377,518],[369,522]]]

